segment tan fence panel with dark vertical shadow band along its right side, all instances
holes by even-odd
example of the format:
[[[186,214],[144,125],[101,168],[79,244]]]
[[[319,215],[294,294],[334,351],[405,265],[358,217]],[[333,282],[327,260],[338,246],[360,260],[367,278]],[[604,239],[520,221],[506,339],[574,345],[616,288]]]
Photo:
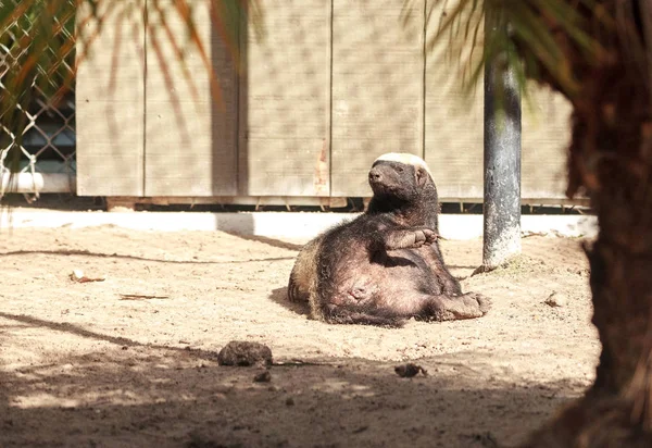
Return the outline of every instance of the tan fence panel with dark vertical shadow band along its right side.
[[[187,26],[173,2],[148,0],[148,21],[155,34],[147,37],[147,196],[237,194],[236,67],[211,23],[210,0],[195,2],[193,7],[197,30],[211,58],[221,99],[211,95],[210,72],[199,51],[189,45]],[[186,49],[186,72],[160,26],[161,13],[178,48]]]

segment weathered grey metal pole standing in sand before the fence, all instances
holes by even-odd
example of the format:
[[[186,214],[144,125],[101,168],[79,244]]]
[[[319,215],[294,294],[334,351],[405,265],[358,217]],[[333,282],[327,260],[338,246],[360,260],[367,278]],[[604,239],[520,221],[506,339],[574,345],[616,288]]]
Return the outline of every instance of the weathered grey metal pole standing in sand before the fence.
[[[507,24],[487,20],[485,30],[496,33],[498,26]],[[486,271],[521,253],[521,92],[503,53],[485,65],[484,221]]]

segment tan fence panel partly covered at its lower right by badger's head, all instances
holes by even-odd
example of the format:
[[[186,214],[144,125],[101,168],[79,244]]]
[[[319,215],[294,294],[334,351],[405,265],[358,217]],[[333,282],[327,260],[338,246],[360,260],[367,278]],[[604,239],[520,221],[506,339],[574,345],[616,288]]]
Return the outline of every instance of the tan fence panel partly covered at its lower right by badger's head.
[[[368,196],[385,152],[423,155],[425,1],[401,22],[402,0],[334,0],[333,196]]]

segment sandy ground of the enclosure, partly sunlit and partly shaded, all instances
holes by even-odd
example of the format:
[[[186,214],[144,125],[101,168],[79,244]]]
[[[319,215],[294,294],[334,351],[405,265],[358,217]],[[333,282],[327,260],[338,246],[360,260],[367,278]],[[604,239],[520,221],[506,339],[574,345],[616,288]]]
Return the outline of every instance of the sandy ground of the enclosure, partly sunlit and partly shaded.
[[[579,240],[529,237],[512,267],[468,277],[481,241],[442,241],[479,320],[333,326],[285,300],[299,245],[224,233],[0,233],[0,446],[494,447],[593,377]],[[104,282],[75,283],[73,270]],[[554,291],[565,307],[544,303]],[[164,298],[125,300],[121,295]],[[231,339],[258,368],[218,366]],[[428,376],[401,378],[414,361]]]

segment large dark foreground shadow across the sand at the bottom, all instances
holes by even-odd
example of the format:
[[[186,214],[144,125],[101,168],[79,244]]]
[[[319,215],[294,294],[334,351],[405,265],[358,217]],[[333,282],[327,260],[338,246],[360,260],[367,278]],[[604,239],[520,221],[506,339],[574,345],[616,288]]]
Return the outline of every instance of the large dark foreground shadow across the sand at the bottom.
[[[255,383],[256,368],[218,366],[205,352],[2,316],[111,343],[0,370],[2,447],[498,447],[576,395],[567,383],[460,379],[438,358],[419,360],[429,374],[413,378],[393,363],[324,359],[272,366],[271,382]]]

